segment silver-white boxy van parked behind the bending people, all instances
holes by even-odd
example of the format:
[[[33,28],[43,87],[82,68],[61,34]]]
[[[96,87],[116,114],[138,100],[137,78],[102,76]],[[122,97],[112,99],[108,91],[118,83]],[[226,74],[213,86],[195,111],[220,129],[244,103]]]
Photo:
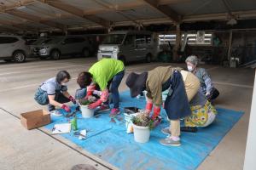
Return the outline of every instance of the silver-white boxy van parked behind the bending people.
[[[124,63],[156,59],[159,41],[150,31],[113,31],[99,46],[97,58],[120,59]]]

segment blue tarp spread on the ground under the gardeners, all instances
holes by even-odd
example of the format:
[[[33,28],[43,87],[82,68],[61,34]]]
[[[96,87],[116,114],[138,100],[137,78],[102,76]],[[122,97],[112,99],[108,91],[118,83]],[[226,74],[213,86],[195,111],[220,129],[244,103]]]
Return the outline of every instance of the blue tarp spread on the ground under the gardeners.
[[[129,92],[121,95],[121,111],[127,106],[143,108],[144,99],[131,99]],[[199,128],[197,133],[182,133],[182,145],[179,147],[164,146],[160,139],[166,134],[160,132],[163,127],[169,126],[166,113],[161,111],[165,120],[159,127],[151,131],[150,141],[138,144],[133,139],[133,134],[127,134],[125,120],[115,119],[110,122],[109,112],[99,117],[89,119],[81,118],[79,114],[79,130],[86,129],[87,139],[79,140],[73,132],[61,134],[66,139],[78,144],[84,150],[101,157],[120,169],[195,169],[218,145],[224,135],[241,118],[243,112],[218,108],[218,116],[209,127]],[[46,127],[52,129],[55,123],[67,122],[67,118],[52,116],[52,123]]]

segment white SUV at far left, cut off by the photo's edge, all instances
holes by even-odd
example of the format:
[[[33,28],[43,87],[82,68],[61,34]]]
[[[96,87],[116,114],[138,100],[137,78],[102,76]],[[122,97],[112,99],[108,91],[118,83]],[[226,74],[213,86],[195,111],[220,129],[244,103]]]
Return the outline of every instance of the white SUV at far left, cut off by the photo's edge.
[[[15,61],[18,63],[26,61],[31,54],[26,40],[19,36],[0,35],[0,59]]]

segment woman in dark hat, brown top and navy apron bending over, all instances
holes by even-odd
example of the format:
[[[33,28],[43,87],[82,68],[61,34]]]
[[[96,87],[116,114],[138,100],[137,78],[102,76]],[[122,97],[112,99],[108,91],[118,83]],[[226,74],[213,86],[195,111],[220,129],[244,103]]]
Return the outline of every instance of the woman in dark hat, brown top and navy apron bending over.
[[[169,90],[165,101],[165,110],[168,118],[171,120],[171,136],[161,139],[160,144],[179,146],[180,142],[180,119],[191,115],[189,101],[195,96],[200,88],[200,82],[195,75],[189,71],[183,71],[180,68],[172,66],[156,67],[152,71],[142,74],[131,74],[126,79],[126,85],[131,90],[131,97],[134,98],[141,94],[143,90],[147,93],[146,111],[149,113],[153,109],[151,118],[160,114],[160,105],[162,105],[162,92]]]

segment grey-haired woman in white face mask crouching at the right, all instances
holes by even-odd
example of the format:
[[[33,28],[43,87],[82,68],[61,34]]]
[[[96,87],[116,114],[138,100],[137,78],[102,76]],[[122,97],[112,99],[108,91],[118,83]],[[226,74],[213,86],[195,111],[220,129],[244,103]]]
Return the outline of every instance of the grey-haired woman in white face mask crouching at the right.
[[[207,71],[203,68],[198,68],[198,58],[195,55],[191,55],[186,59],[186,64],[188,67],[188,71],[195,74],[196,77],[200,80],[201,83],[201,90],[204,94],[206,94],[207,99],[212,101],[216,99],[219,95],[219,92],[216,88],[212,85],[212,80],[207,73]]]

